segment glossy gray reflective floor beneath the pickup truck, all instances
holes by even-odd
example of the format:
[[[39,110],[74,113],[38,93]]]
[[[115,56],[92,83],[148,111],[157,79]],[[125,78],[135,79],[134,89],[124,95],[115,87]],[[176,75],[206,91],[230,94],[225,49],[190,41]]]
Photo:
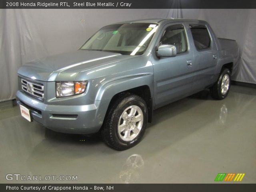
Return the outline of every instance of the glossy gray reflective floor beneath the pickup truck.
[[[207,93],[156,110],[142,142],[122,152],[30,123],[18,107],[1,110],[0,183],[31,182],[7,181],[10,173],[78,176],[68,183],[213,183],[245,173],[243,183],[256,183],[256,90],[232,86],[221,101]]]

